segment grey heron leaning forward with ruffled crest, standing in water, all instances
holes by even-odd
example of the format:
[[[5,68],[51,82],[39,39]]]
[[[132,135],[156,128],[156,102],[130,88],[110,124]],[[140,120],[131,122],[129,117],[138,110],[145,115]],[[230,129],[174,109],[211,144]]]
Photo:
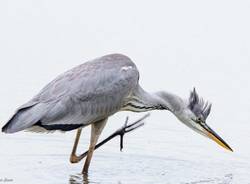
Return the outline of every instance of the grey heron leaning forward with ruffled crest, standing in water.
[[[151,110],[167,110],[192,130],[233,151],[206,124],[211,104],[199,97],[195,89],[188,99],[166,91],[148,93],[139,85],[136,65],[122,54],[105,55],[59,75],[18,108],[2,131],[14,133],[21,130],[44,132],[77,129],[70,161],[79,162],[87,154],[83,172],[88,172],[98,138],[110,116],[118,111]],[[88,152],[76,156],[81,130],[88,125],[91,125]]]

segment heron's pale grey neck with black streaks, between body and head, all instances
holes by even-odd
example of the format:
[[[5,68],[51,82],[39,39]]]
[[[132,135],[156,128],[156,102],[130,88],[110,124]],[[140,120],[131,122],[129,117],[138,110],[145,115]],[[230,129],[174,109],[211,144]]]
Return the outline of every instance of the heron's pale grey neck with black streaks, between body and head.
[[[148,93],[141,87],[135,91],[124,110],[134,112],[145,112],[150,110],[170,110],[173,113],[179,112],[184,106],[184,101],[177,95],[159,91]]]

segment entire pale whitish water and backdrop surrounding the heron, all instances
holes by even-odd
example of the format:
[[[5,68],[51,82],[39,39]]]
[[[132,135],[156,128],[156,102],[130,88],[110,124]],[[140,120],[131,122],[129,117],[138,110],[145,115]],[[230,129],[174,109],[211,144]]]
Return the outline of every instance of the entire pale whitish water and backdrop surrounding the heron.
[[[59,5],[59,6],[58,6]],[[70,164],[75,131],[0,132],[0,184],[156,183],[250,184],[250,4],[242,1],[0,1],[0,127],[58,74],[89,59],[120,52],[140,70],[147,91],[167,90],[213,103],[208,124],[228,152],[153,112],[140,130],[94,154],[88,176]],[[112,117],[101,139],[122,126]],[[89,142],[83,130],[80,149]]]

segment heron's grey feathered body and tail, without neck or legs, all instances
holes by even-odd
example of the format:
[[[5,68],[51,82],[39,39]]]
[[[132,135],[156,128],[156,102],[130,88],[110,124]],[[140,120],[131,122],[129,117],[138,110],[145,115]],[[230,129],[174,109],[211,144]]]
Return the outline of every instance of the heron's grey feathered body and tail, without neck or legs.
[[[24,104],[3,127],[4,132],[40,126],[88,125],[119,111],[138,85],[134,63],[111,54],[75,67],[49,83]]]

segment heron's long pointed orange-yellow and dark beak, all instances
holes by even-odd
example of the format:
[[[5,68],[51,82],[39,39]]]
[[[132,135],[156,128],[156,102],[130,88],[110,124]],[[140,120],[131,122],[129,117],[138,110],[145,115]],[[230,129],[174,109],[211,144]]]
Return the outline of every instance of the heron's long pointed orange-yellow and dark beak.
[[[219,144],[223,148],[233,152],[232,148],[230,148],[230,146],[215,131],[213,131],[207,124],[203,123],[203,124],[201,124],[201,126],[205,130],[205,134],[210,139],[215,141],[217,144]]]

